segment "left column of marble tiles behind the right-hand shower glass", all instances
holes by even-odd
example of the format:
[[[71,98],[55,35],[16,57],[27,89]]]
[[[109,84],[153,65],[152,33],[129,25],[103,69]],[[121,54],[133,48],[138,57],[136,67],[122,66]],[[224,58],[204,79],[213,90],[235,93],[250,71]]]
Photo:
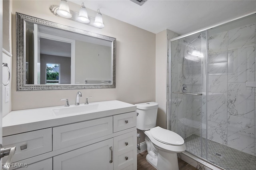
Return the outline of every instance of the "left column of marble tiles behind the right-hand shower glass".
[[[207,138],[227,144],[228,32],[208,37]]]

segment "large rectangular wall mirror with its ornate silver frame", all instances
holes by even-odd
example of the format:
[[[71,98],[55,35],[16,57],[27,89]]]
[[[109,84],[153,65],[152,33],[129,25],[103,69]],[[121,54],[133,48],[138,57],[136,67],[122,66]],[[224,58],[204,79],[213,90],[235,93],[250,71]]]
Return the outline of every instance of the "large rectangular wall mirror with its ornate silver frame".
[[[17,91],[115,88],[116,38],[16,12]]]

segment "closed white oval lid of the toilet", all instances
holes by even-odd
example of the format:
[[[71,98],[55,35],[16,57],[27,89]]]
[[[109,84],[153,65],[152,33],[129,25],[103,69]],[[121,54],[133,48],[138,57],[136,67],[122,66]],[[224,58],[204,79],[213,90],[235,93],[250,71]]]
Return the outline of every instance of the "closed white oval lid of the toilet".
[[[154,127],[150,129],[150,132],[153,138],[162,143],[177,146],[184,144],[183,138],[170,130],[161,127]]]

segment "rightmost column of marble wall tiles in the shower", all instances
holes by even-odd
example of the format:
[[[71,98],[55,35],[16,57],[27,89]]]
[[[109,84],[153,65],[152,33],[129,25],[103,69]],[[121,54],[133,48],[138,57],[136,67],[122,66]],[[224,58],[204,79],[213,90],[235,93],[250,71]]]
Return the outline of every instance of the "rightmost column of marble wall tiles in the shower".
[[[228,31],[228,146],[255,153],[255,24]]]

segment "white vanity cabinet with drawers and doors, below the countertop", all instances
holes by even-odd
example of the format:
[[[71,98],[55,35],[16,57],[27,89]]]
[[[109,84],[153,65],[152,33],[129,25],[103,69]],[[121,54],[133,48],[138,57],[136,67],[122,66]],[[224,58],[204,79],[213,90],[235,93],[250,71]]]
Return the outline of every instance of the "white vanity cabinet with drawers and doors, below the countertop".
[[[117,101],[114,102],[116,105]],[[28,165],[10,169],[136,170],[136,107],[121,104],[127,104],[129,109],[53,119],[50,127],[42,129],[30,126],[40,127],[49,124],[48,121],[36,126],[17,125],[17,129],[3,128],[9,134],[28,128],[28,131],[3,136],[5,146],[16,145],[12,162]]]

